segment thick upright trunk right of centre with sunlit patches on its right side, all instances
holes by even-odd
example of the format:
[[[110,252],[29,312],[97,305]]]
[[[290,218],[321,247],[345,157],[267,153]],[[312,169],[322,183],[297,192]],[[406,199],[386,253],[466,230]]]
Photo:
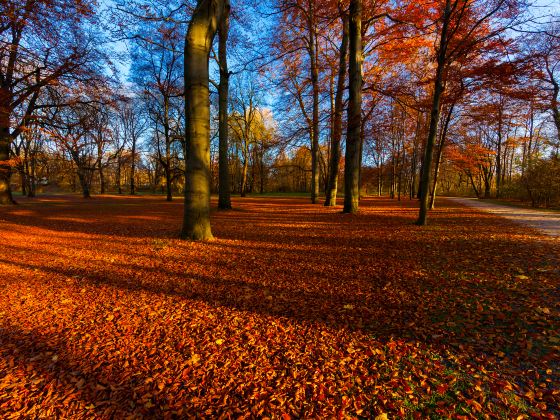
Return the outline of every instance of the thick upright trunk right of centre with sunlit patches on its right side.
[[[344,165],[344,213],[357,213],[360,201],[362,128],[362,1],[350,1],[350,93]]]

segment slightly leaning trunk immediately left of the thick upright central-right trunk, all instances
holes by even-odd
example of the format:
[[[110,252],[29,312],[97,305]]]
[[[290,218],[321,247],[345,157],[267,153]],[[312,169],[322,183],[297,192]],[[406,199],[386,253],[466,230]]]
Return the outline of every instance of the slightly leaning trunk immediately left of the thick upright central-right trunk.
[[[348,16],[342,19],[342,43],[340,45],[340,57],[338,67],[338,79],[334,99],[333,130],[331,139],[331,156],[329,165],[329,178],[327,180],[327,191],[325,206],[336,206],[336,195],[338,192],[338,173],[340,171],[340,141],[342,139],[342,111],[344,108],[344,85],[346,82],[346,58],[348,56]]]

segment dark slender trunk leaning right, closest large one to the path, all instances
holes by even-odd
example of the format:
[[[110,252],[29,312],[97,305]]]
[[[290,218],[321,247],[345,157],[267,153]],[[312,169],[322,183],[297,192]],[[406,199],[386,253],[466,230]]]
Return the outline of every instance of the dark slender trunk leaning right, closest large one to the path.
[[[424,152],[424,162],[422,164],[422,178],[420,179],[420,212],[416,224],[425,226],[428,224],[428,200],[430,197],[430,180],[432,177],[432,160],[434,155],[434,144],[437,137],[439,124],[441,96],[444,91],[443,71],[446,64],[447,37],[449,30],[449,20],[451,18],[451,0],[446,0],[443,16],[443,26],[439,43],[436,78],[434,81],[434,97],[432,100],[432,110],[430,113],[430,129],[426,141]]]

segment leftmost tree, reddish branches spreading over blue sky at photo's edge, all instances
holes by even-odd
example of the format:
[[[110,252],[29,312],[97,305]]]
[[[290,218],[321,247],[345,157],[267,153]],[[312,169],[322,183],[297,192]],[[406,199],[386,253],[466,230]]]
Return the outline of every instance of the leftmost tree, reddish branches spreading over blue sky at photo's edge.
[[[33,118],[41,90],[70,74],[84,76],[95,55],[93,34],[83,28],[93,16],[83,0],[0,3],[0,204],[13,202],[10,147]]]

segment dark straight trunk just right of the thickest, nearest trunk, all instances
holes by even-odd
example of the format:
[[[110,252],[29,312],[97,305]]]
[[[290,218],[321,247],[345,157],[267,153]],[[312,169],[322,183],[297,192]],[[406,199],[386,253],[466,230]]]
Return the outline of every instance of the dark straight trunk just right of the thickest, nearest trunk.
[[[228,100],[229,100],[229,70],[227,63],[227,41],[229,32],[229,5],[224,7],[224,14],[218,28],[220,61],[219,96],[219,156],[218,156],[218,208],[231,209],[231,179],[228,160]]]

